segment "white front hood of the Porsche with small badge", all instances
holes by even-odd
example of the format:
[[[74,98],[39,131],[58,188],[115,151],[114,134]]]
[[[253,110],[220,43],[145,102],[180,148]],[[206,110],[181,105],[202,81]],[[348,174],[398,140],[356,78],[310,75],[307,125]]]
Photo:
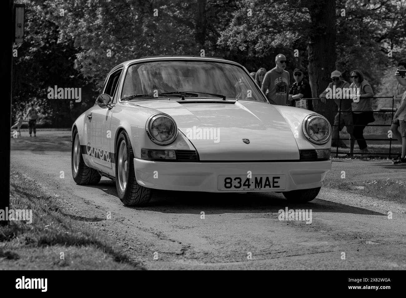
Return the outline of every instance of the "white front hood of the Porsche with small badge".
[[[173,117],[179,130],[197,149],[201,161],[299,159],[291,128],[268,103],[187,99],[136,104]],[[249,139],[249,143],[243,139]]]

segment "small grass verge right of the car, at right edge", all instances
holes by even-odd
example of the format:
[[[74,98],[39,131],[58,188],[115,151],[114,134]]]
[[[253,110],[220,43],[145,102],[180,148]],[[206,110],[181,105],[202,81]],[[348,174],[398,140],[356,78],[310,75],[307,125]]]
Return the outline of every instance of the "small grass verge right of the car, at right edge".
[[[406,203],[406,179],[377,179],[367,181],[330,181],[327,187],[350,191],[360,195]]]

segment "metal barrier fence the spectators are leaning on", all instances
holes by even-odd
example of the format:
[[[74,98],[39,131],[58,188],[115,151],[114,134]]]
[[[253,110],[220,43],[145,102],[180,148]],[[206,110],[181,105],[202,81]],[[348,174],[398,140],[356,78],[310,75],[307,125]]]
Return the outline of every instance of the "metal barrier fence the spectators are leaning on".
[[[391,126],[392,125],[392,120],[393,120],[393,114],[394,114],[394,112],[395,112],[395,110],[393,109],[394,108],[394,103],[395,103],[395,99],[394,99],[394,97],[393,96],[380,96],[380,97],[363,97],[363,99],[367,99],[367,98],[369,98],[369,99],[389,99],[389,98],[391,98],[392,99],[392,109],[391,110],[389,110],[389,111],[382,111],[382,110],[374,110],[373,111],[373,113],[388,113],[388,112],[390,112],[392,115],[391,115],[391,124],[367,124],[367,125],[363,125],[363,124],[358,124],[358,125],[353,125],[353,126]],[[320,98],[307,98],[307,99],[305,99],[305,100],[313,100],[313,99],[316,99],[316,100],[320,100]],[[327,99],[327,100],[332,100],[332,99]],[[332,111],[315,111],[316,113],[319,113],[319,114],[321,114],[321,115],[323,115],[323,113],[325,114],[325,113],[333,113]],[[346,111],[341,111],[341,99],[340,99],[340,106],[339,106],[339,109],[338,109],[338,113],[339,113],[339,118],[338,118],[338,125],[333,125],[333,126],[340,126],[340,120],[341,120],[341,113],[345,113]],[[370,112],[370,111],[358,111],[358,112]],[[334,116],[337,114],[337,112],[334,112]],[[372,122],[373,123],[373,122]],[[374,152],[373,154],[377,154],[377,155],[389,155],[389,158],[391,158],[391,148],[392,148],[392,139],[393,138],[386,138],[386,139],[364,139],[365,141],[389,141],[389,153],[386,153],[386,152]],[[336,141],[337,141],[337,150],[336,150],[336,152],[335,152],[335,156],[336,157],[338,157],[338,154],[346,154],[346,153],[348,153],[348,152],[339,152],[338,151],[338,148],[339,148],[339,141],[340,140],[342,140],[341,138],[340,138],[340,131],[338,131],[338,133],[337,133],[337,139],[336,139]],[[355,141],[357,141],[357,140],[361,140],[361,139],[355,139],[354,138],[354,142]],[[397,140],[397,139],[395,139],[395,140]],[[333,140],[332,140],[333,141]],[[369,155],[371,155],[371,153],[369,152],[369,153],[363,153],[363,152],[357,152],[356,154],[369,154]]]

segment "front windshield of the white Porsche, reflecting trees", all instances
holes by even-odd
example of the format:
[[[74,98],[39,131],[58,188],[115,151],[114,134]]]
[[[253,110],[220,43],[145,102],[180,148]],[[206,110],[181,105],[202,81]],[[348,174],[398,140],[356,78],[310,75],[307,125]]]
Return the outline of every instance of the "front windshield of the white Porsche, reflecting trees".
[[[140,100],[146,94],[168,97],[213,97],[265,101],[252,77],[228,63],[208,61],[154,61],[131,65],[125,75],[121,98]],[[196,93],[196,94],[192,94]],[[134,96],[142,94],[143,96]],[[218,96],[219,95],[219,96]],[[128,96],[131,96],[128,98]],[[224,96],[224,97],[223,97]]]

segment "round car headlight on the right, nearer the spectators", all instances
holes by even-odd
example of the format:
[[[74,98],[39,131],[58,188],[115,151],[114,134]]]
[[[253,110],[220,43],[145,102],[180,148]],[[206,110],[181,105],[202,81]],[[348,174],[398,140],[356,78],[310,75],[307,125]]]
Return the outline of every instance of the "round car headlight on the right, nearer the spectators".
[[[302,129],[307,139],[317,145],[326,144],[331,137],[330,123],[318,114],[306,116]]]

